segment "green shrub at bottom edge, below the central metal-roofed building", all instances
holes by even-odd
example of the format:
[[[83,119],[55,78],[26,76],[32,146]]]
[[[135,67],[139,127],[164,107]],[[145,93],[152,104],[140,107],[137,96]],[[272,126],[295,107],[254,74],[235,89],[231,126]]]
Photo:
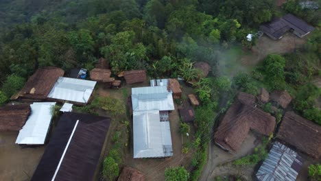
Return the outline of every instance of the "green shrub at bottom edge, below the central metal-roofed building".
[[[165,181],[187,181],[189,173],[184,167],[172,167],[165,170]]]

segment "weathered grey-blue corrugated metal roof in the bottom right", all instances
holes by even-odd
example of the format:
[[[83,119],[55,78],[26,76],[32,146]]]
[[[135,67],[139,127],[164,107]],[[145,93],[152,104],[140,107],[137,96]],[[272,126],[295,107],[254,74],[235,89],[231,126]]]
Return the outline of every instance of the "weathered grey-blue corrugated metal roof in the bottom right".
[[[302,164],[303,160],[296,152],[275,142],[256,176],[258,180],[263,181],[295,181]]]

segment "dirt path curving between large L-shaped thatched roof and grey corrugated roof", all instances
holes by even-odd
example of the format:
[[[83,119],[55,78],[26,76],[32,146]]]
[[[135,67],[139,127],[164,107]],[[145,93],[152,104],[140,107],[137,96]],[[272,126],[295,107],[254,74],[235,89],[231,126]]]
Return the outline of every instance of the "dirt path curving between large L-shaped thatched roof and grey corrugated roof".
[[[217,176],[217,172],[215,172],[217,165],[222,165],[223,163],[230,162],[231,160],[235,160],[237,158],[241,158],[243,156],[246,156],[247,154],[250,154],[254,147],[257,146],[255,145],[256,140],[256,136],[254,136],[254,134],[250,132],[250,134],[248,134],[248,136],[246,137],[246,140],[241,145],[241,149],[239,149],[239,151],[236,154],[224,152],[222,149],[220,149],[213,143],[210,143],[209,157],[199,180],[213,180],[213,178]]]

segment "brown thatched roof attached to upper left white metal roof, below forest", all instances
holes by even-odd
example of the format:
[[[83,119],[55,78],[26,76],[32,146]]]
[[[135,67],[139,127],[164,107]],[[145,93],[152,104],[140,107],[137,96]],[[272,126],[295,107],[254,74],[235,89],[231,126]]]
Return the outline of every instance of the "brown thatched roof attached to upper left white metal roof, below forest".
[[[64,71],[57,67],[38,69],[34,75],[29,77],[27,83],[25,83],[25,86],[19,92],[18,97],[23,99],[46,99],[58,77],[63,75]]]

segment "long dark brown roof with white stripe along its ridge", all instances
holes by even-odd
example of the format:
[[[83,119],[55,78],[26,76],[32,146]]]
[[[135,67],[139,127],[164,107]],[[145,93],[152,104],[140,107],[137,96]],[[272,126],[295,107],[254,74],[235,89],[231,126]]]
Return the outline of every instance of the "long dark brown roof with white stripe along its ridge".
[[[97,180],[110,121],[64,112],[31,180]]]

